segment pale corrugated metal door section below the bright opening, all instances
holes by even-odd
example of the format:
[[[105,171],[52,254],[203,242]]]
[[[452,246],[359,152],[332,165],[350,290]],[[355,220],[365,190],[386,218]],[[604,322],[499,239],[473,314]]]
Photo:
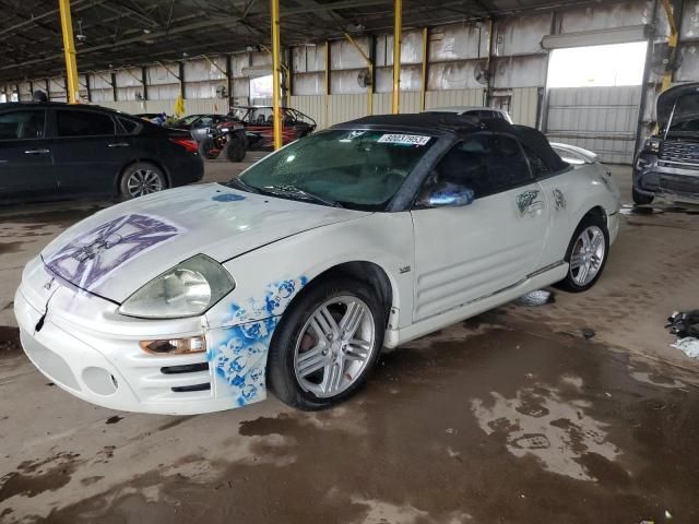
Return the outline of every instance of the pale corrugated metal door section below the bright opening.
[[[549,90],[547,135],[597,153],[602,162],[630,164],[641,86]]]

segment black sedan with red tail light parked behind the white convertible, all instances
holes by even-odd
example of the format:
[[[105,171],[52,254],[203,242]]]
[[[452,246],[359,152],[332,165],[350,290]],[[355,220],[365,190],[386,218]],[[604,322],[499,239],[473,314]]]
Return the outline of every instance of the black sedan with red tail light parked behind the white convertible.
[[[132,199],[199,181],[203,172],[187,131],[97,106],[0,105],[0,203]]]

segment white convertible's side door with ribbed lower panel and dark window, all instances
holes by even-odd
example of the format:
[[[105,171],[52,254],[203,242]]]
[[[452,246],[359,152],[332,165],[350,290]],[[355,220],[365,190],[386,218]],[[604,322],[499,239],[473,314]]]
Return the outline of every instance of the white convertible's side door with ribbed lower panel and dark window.
[[[415,209],[414,321],[514,286],[536,271],[547,201],[514,138],[475,133],[437,164],[426,186],[474,191],[460,207]]]

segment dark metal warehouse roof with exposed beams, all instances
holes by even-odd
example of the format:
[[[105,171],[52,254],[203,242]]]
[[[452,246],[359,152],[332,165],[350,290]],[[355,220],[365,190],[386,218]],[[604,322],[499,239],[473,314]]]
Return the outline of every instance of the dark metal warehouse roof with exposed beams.
[[[403,27],[423,27],[593,0],[405,0]],[[0,81],[63,72],[55,0],[0,0]],[[245,50],[270,40],[266,0],[73,0],[81,71]],[[282,44],[392,27],[392,0],[281,0]]]

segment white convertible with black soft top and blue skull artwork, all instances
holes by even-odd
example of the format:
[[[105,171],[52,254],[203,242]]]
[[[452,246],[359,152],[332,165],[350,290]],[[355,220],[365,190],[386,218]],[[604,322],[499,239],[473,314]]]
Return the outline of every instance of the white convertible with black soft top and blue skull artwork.
[[[618,229],[597,163],[537,131],[453,115],[367,117],[227,186],[106,209],[32,260],[22,344],[116,409],[331,406],[395,347],[557,284],[591,287]]]

